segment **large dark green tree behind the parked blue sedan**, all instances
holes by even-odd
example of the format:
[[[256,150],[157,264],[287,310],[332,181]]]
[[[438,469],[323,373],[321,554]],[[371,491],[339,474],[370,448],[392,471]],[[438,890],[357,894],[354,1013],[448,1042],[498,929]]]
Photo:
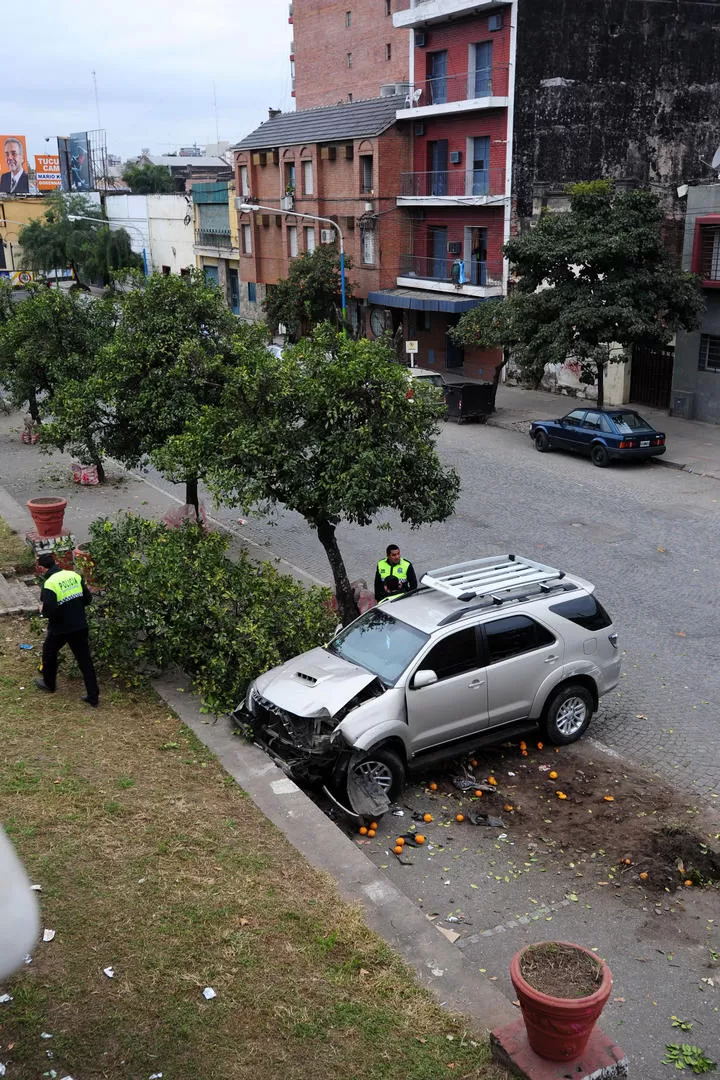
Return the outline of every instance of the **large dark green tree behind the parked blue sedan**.
[[[663,245],[656,195],[613,191],[607,180],[569,193],[567,213],[543,214],[505,244],[517,275],[508,296],[467,312],[451,333],[466,347],[502,347],[534,387],[546,365],[572,360],[601,406],[606,365],[693,329],[703,300]]]

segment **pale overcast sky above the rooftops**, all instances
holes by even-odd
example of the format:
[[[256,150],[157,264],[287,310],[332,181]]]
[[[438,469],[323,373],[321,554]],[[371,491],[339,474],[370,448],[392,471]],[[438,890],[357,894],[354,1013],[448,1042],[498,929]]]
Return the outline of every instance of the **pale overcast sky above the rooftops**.
[[[213,83],[231,143],[294,107],[287,0],[15,0],[5,14],[0,133],[25,135],[30,163],[95,127],[123,161],[215,143]]]

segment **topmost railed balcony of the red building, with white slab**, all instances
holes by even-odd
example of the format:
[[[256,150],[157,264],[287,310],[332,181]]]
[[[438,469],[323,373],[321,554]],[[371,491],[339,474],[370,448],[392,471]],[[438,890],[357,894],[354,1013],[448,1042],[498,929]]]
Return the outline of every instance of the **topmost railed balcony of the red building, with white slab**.
[[[419,120],[447,112],[507,108],[507,64],[474,68],[415,81],[415,90],[397,110],[398,120]]]

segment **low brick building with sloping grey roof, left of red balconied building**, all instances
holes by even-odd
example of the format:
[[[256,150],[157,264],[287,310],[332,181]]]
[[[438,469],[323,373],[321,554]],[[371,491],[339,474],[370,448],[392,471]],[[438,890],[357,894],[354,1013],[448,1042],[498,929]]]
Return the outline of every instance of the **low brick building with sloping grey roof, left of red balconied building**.
[[[395,284],[409,243],[397,192],[410,143],[396,110],[378,97],[273,112],[233,147],[237,202],[267,207],[240,214],[241,315],[262,319],[267,289],[287,276],[290,260],[335,243],[335,231],[313,220],[325,217],[339,225],[352,261],[357,298],[349,316],[357,333],[368,332],[365,298]]]

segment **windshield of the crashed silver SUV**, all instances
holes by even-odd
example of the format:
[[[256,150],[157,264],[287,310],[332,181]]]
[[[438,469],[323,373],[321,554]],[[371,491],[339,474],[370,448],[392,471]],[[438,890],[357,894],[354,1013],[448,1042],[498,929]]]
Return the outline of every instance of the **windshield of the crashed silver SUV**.
[[[427,638],[427,634],[393,619],[381,608],[372,608],[334,637],[326,648],[394,686]]]

